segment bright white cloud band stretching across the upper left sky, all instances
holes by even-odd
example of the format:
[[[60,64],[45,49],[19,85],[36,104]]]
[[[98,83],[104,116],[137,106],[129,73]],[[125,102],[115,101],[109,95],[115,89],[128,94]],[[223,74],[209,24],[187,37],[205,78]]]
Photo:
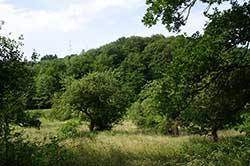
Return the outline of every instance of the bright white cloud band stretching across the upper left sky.
[[[109,7],[133,7],[142,0],[88,0],[79,1],[59,11],[18,8],[0,0],[0,19],[5,29],[22,34],[63,31],[69,32],[87,26],[87,23]],[[59,2],[60,3],[60,2]]]

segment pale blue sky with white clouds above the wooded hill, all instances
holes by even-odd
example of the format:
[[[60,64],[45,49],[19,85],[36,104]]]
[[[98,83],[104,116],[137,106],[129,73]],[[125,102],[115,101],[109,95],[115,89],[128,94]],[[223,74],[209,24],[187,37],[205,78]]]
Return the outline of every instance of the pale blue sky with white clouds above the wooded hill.
[[[98,48],[120,37],[169,33],[163,25],[151,28],[141,19],[145,0],[0,0],[0,35],[24,36],[22,51],[29,59],[35,49],[41,56],[64,57]],[[198,4],[181,33],[202,30],[204,6]]]

